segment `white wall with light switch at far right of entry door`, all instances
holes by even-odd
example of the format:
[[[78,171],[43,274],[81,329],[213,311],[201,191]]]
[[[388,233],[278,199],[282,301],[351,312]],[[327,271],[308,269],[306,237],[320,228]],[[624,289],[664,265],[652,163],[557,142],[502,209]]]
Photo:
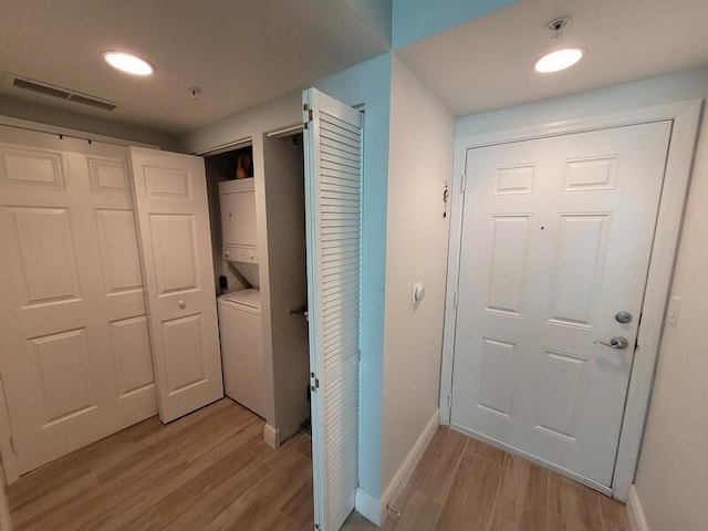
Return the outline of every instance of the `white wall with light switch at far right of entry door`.
[[[704,82],[708,96],[708,80]],[[698,140],[666,325],[635,480],[652,531],[708,529],[708,115]]]

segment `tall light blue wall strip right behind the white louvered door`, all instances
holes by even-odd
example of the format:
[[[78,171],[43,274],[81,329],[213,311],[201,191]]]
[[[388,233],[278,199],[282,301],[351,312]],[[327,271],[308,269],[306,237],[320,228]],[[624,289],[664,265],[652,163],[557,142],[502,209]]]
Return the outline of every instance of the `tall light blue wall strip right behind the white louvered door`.
[[[365,106],[360,488],[374,499],[381,496],[391,67],[392,55],[386,53],[315,84],[348,105]]]

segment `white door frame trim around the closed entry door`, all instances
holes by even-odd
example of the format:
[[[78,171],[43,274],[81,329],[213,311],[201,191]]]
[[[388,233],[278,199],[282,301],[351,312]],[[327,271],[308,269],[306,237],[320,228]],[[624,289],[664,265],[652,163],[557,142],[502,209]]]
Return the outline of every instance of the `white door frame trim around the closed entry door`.
[[[455,169],[451,183],[451,219],[448,249],[448,282],[445,298],[445,330],[440,369],[440,424],[450,425],[452,405],[452,371],[455,360],[456,302],[459,284],[462,205],[467,150],[512,142],[586,133],[614,127],[671,121],[664,186],[659,199],[654,246],[649,258],[642,324],[637,335],[625,414],[620,434],[611,494],[627,499],[639,457],[644,426],[648,412],[654,373],[662,341],[664,316],[669,298],[674,264],[678,250],[684,208],[691,174],[694,150],[702,100],[601,114],[586,118],[510,128],[498,133],[458,138],[455,146]],[[596,487],[596,486],[595,486]]]

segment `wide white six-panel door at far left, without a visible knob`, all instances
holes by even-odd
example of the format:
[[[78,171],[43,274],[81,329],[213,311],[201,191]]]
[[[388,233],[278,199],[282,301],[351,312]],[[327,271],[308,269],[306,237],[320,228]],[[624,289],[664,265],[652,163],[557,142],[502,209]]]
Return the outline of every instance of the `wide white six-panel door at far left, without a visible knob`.
[[[127,148],[0,127],[0,293],[10,480],[157,413]]]

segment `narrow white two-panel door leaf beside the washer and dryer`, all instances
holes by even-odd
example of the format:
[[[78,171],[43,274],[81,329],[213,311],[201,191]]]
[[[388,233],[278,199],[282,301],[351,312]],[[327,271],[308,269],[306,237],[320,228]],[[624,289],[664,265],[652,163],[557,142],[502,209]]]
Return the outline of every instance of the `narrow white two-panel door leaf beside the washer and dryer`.
[[[223,396],[204,159],[131,148],[160,419]]]

